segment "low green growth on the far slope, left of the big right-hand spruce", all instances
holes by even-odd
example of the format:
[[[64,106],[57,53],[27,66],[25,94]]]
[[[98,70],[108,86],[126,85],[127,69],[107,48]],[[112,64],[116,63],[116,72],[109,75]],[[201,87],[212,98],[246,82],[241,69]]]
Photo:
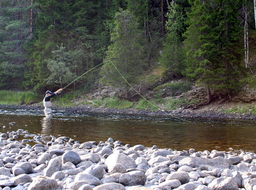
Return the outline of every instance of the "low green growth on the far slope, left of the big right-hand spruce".
[[[162,89],[171,91],[171,95],[175,95],[177,92],[183,93],[191,89],[190,82],[175,82],[162,84],[154,89],[154,91],[159,91]]]

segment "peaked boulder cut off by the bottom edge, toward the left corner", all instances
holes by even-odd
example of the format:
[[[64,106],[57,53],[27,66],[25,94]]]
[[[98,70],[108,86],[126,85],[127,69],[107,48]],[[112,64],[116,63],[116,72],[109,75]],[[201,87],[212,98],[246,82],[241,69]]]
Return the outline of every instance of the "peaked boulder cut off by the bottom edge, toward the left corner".
[[[46,176],[37,176],[36,179],[28,186],[28,190],[55,190],[58,183],[55,179]]]

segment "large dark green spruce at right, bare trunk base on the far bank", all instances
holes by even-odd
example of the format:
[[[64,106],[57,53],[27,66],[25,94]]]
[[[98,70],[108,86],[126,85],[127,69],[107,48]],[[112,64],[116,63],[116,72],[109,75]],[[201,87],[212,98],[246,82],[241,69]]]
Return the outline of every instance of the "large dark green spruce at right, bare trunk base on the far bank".
[[[238,0],[190,0],[185,32],[186,70],[190,78],[221,94],[235,93],[241,76],[241,27]],[[208,102],[209,102],[208,101]]]

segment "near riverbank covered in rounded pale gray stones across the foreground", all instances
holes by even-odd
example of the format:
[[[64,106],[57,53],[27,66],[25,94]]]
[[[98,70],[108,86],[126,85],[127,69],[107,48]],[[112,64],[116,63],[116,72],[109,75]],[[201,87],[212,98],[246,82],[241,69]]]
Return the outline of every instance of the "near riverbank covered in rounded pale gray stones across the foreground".
[[[22,141],[15,141],[24,135]],[[36,144],[25,144],[33,138]],[[255,190],[256,154],[130,147],[109,138],[44,141],[22,129],[0,134],[4,190]]]

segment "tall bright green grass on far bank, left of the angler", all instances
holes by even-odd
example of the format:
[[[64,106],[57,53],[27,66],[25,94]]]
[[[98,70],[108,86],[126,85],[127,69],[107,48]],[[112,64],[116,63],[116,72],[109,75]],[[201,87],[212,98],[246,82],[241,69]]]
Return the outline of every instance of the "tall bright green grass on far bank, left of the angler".
[[[0,104],[32,104],[39,101],[39,95],[33,91],[0,90]]]

